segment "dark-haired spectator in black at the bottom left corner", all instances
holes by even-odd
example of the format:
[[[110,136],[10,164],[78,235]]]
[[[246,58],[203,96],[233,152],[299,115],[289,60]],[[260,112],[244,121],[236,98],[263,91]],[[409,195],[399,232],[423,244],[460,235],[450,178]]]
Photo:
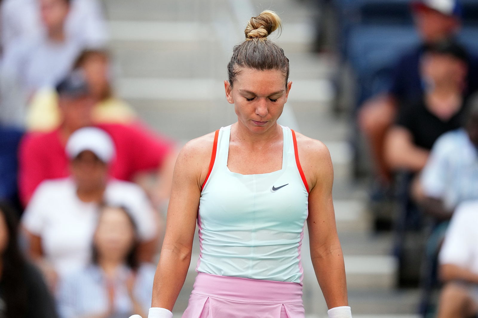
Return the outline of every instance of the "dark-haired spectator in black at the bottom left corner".
[[[17,236],[15,213],[0,203],[0,317],[56,318],[53,297],[38,269],[23,259]]]

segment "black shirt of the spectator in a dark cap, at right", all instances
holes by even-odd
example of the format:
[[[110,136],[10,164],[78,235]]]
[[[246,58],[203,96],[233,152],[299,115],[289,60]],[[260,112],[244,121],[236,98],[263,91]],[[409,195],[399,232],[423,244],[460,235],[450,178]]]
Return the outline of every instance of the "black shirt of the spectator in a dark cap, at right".
[[[432,149],[435,141],[443,133],[462,126],[465,107],[444,122],[426,108],[424,98],[417,103],[406,103],[400,108],[397,124],[406,128],[413,135],[413,143],[419,147]]]

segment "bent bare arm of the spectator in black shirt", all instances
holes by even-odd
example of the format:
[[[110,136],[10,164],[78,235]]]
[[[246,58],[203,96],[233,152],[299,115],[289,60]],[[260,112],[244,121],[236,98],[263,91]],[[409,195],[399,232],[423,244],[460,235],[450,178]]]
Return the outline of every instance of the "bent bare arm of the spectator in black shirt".
[[[413,136],[406,129],[395,125],[385,137],[385,160],[392,169],[417,172],[423,169],[429,151],[413,144]]]

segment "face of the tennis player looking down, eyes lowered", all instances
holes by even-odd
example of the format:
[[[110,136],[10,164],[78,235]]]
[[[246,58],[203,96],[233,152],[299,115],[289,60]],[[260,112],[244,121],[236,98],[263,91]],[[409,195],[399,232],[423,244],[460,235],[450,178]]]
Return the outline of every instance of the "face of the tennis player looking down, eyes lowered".
[[[233,86],[225,81],[226,97],[238,120],[251,132],[267,131],[281,116],[292,86],[280,70],[239,69]]]

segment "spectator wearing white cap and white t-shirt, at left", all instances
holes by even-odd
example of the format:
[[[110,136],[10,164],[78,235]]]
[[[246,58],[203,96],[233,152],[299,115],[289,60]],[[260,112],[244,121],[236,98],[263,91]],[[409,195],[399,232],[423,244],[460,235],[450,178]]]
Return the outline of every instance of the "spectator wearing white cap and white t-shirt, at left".
[[[55,289],[57,278],[84,267],[101,204],[124,206],[138,225],[139,257],[151,261],[157,246],[157,215],[138,185],[111,179],[114,145],[108,133],[85,127],[66,144],[71,177],[44,181],[25,209],[22,224],[29,255]]]

